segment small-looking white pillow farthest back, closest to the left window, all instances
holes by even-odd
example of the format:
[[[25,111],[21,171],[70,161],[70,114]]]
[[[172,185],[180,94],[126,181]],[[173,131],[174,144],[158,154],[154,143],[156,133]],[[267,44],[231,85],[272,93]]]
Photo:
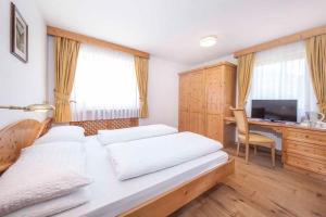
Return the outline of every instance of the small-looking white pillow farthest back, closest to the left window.
[[[57,141],[74,141],[84,142],[86,137],[85,129],[78,126],[58,126],[51,128],[45,136],[37,139],[35,144],[57,142]]]

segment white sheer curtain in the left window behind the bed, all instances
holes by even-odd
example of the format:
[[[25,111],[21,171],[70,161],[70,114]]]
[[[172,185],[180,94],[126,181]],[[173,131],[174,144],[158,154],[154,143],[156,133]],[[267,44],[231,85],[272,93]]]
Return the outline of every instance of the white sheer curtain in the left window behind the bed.
[[[73,120],[138,117],[134,56],[82,44],[71,105]]]

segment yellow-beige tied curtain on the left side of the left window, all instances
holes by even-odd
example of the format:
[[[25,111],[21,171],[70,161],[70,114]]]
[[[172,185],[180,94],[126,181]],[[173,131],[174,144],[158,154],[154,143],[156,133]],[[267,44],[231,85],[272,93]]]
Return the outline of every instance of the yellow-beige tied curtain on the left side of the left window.
[[[73,89],[80,42],[67,38],[54,38],[55,89],[54,122],[71,122],[70,98]]]

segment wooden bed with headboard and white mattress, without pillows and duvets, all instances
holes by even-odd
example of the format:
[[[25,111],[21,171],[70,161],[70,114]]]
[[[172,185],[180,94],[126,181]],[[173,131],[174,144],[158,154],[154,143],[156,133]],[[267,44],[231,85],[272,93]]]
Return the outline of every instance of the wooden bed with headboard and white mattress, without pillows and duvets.
[[[45,133],[50,122],[22,120],[0,131],[0,168],[4,170]],[[212,153],[149,175],[120,181],[108,161],[108,152],[96,137],[87,137],[87,169],[95,181],[89,203],[57,216],[167,216],[223,178],[234,173],[234,159],[224,152]]]

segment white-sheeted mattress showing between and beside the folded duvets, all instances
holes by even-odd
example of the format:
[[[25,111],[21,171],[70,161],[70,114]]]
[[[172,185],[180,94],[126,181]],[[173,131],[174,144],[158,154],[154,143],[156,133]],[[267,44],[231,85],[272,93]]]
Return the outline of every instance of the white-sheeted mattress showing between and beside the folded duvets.
[[[218,167],[228,159],[225,152],[218,151],[167,169],[120,181],[114,175],[105,148],[95,136],[87,138],[85,146],[87,170],[93,178],[93,182],[87,187],[90,192],[90,201],[55,216],[116,216],[187,180]]]

